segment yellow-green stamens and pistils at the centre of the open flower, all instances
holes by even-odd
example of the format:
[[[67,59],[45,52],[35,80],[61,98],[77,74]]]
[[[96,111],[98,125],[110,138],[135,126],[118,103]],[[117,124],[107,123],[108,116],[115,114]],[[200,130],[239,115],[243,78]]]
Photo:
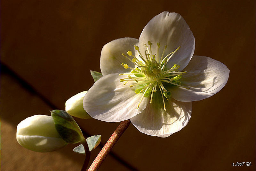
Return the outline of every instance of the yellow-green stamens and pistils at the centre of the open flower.
[[[180,49],[180,46],[164,57],[164,52],[167,48],[167,45],[165,45],[164,51],[160,57],[160,43],[157,43],[158,48],[156,54],[154,55],[152,53],[152,43],[150,41],[148,41],[148,45],[145,44],[146,50],[144,56],[141,54],[139,46],[134,45],[135,50],[137,50],[139,53],[139,58],[134,56],[132,54],[132,51],[127,52],[129,56],[133,57],[132,59],[130,59],[123,53],[123,56],[129,59],[132,63],[134,63],[136,68],[129,67],[127,64],[122,63],[125,69],[130,68],[132,69],[132,71],[127,74],[119,74],[128,75],[128,77],[120,79],[120,82],[124,82],[125,85],[128,81],[135,81],[136,83],[130,85],[130,87],[137,86],[138,89],[135,90],[135,93],[143,93],[143,96],[140,99],[137,109],[139,109],[143,97],[150,96],[149,103],[152,103],[153,94],[157,91],[157,89],[159,89],[164,103],[164,110],[166,110],[164,99],[170,100],[172,94],[170,91],[165,89],[165,87],[179,86],[189,89],[187,87],[180,85],[181,82],[179,81],[182,75],[187,73],[186,71],[179,71],[180,66],[177,64],[173,65],[172,68],[165,68],[167,62]]]

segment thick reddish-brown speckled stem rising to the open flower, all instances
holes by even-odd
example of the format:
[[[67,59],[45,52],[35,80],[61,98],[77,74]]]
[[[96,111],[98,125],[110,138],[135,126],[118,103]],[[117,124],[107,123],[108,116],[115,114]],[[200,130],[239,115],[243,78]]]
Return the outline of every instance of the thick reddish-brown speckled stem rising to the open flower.
[[[111,135],[105,146],[101,149],[98,156],[92,162],[92,165],[89,167],[88,171],[97,171],[99,169],[100,165],[105,160],[110,150],[116,144],[117,140],[121,137],[124,131],[128,128],[130,123],[130,119],[120,123],[120,125],[116,128],[116,131]]]

